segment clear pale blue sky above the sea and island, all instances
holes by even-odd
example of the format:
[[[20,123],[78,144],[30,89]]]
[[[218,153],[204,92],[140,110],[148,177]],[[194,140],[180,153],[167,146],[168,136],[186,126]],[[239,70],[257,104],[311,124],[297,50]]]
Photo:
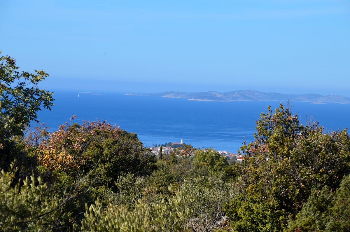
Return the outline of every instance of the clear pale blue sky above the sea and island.
[[[350,1],[4,1],[0,50],[47,89],[350,97]]]

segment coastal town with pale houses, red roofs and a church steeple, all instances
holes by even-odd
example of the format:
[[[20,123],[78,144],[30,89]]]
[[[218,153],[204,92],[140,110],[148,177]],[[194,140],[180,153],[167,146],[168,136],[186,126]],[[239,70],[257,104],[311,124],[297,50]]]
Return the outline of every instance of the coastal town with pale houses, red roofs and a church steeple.
[[[183,147],[184,145],[186,145],[185,143],[183,143],[183,139],[181,139],[181,142],[175,142],[175,143],[172,143],[172,142],[169,142],[169,143],[165,143],[165,144],[156,144],[156,146],[151,146],[149,147],[149,149],[151,149],[151,151],[154,153],[154,155],[158,156],[159,155],[159,152],[160,152],[160,149],[162,149],[162,154],[166,154],[166,155],[170,155],[172,153],[172,151],[176,148],[181,148]],[[201,149],[201,148],[198,148],[198,149]],[[204,151],[206,151],[208,148],[206,149],[203,149]],[[243,161],[243,156],[241,156],[240,154],[238,153],[232,153],[232,152],[228,152],[228,151],[217,151],[219,154],[221,154],[222,156],[226,157],[229,161],[238,161],[238,162],[241,162]],[[194,152],[192,152],[190,154],[190,156],[194,156]]]

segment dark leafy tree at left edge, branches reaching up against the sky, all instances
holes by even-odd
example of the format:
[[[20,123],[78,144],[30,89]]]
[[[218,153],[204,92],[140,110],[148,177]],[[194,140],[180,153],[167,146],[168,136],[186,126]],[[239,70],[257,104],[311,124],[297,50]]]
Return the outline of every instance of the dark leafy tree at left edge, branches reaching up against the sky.
[[[0,167],[4,169],[22,155],[14,137],[22,136],[31,121],[38,121],[37,111],[54,105],[53,93],[38,87],[49,74],[43,70],[20,73],[15,61],[10,56],[0,58]]]

